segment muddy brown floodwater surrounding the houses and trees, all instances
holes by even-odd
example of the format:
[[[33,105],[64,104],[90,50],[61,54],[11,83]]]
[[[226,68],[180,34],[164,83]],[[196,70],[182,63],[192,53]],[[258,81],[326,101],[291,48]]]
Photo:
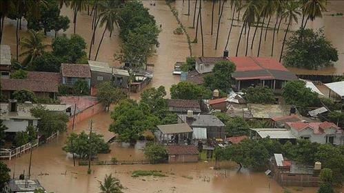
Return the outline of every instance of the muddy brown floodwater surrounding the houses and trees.
[[[184,5],[182,1],[176,1],[176,7],[179,12],[185,13],[187,10],[187,2]],[[156,1],[156,6],[150,6],[149,1],[143,1],[144,5],[150,8],[150,13],[156,17],[156,22],[162,24],[162,32],[159,36],[160,47],[156,54],[150,58],[150,63],[154,63],[154,79],[150,87],[158,87],[164,85],[167,89],[172,84],[179,81],[178,76],[172,76],[173,65],[176,61],[185,60],[189,56],[188,43],[185,36],[174,35],[173,30],[178,26],[170,9],[165,5],[164,1]],[[194,1],[192,1],[192,6]],[[228,23],[227,18],[230,17],[230,8],[225,7],[226,21],[221,23],[221,32],[219,38],[219,49],[214,51],[214,36],[210,38],[210,16],[211,3],[204,1],[204,10],[210,14],[203,14],[203,27],[205,30],[205,56],[221,56],[223,50],[223,40],[226,38]],[[339,1],[331,1],[327,5],[329,13],[344,12],[344,3]],[[192,9],[191,9],[192,10]],[[72,19],[72,10],[63,8],[62,14],[68,15]],[[180,14],[181,15],[181,14]],[[215,21],[217,15],[215,14]],[[192,16],[181,15],[181,19],[185,26],[190,26]],[[25,23],[25,22],[23,22]],[[90,43],[91,30],[90,25],[92,18],[87,13],[82,12],[78,14],[77,19],[77,34],[85,38],[86,42]],[[3,34],[3,43],[9,44],[12,49],[12,57],[15,57],[15,22],[6,19],[5,32]],[[332,43],[338,48],[340,61],[332,68],[323,69],[318,73],[343,73],[343,17],[339,16],[324,16],[323,19],[317,19],[314,22],[309,22],[309,26],[321,27],[325,25],[325,34]],[[294,25],[293,25],[294,26]],[[214,27],[216,29],[216,27]],[[225,30],[224,30],[225,29]],[[223,31],[224,30],[224,31]],[[70,29],[65,33],[72,34],[73,26],[71,23]],[[97,31],[96,42],[92,49],[92,58],[95,55],[97,45],[101,38],[102,30]],[[194,37],[194,30],[188,29],[190,36]],[[236,47],[236,38],[239,34],[239,27],[234,27],[232,31],[232,38],[230,40],[230,56],[233,56]],[[25,27],[19,32],[20,36],[27,36]],[[61,32],[59,33],[61,34]],[[48,34],[46,43],[50,43],[54,34]],[[244,36],[245,37],[245,36]],[[283,33],[279,33],[279,45],[283,38]],[[269,38],[268,38],[269,40]],[[270,45],[264,43],[261,49],[261,56],[268,56],[270,53]],[[114,61],[113,54],[119,50],[119,40],[117,31],[109,37],[105,33],[105,38],[101,50],[99,52],[100,61],[110,63],[110,65],[119,65]],[[244,50],[245,41],[241,47],[241,54]],[[275,56],[279,53],[279,46],[276,43]],[[192,49],[194,54],[201,54],[200,52],[200,38],[198,44],[193,44]],[[256,46],[253,53],[256,52]],[[297,69],[298,71],[301,71]],[[312,71],[306,71],[312,72]],[[139,98],[139,94],[132,95],[133,98]],[[110,115],[108,113],[99,113],[94,115],[94,132],[108,135],[108,127],[111,123]],[[75,131],[80,132],[85,130],[89,132],[90,119],[84,120],[76,125]],[[70,132],[70,129],[69,129]],[[125,186],[125,192],[283,192],[283,188],[278,185],[273,179],[266,177],[263,172],[250,172],[248,170],[241,170],[237,172],[238,166],[234,163],[221,163],[223,170],[212,170],[214,163],[189,163],[189,164],[159,164],[159,165],[132,165],[132,166],[92,166],[92,174],[87,174],[87,166],[73,166],[72,157],[67,155],[61,149],[65,143],[66,135],[60,135],[51,143],[45,144],[33,150],[32,155],[32,179],[39,179],[42,185],[50,192],[99,192],[99,181],[103,179],[105,174],[114,174],[118,177]],[[111,153],[99,155],[99,159],[110,160],[111,157],[117,159],[136,160],[143,159],[144,144],[139,142],[136,146],[131,147],[128,144],[111,144]],[[22,155],[11,161],[6,161],[10,166],[12,172],[15,171],[15,176],[23,170],[28,171],[29,154]],[[162,170],[168,177],[131,177],[133,170]],[[12,174],[11,174],[12,175]],[[288,188],[291,192],[316,192],[316,188]],[[344,189],[340,190],[344,192]]]

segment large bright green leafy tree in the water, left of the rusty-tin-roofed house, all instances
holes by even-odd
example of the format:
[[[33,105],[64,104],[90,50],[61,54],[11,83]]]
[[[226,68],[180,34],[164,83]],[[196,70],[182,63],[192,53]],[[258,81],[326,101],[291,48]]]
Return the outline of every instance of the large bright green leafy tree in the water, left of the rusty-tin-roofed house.
[[[150,108],[145,103],[138,104],[132,100],[122,100],[111,113],[114,122],[110,131],[119,135],[120,141],[134,142],[145,130],[154,130],[160,123],[159,118],[150,114]]]

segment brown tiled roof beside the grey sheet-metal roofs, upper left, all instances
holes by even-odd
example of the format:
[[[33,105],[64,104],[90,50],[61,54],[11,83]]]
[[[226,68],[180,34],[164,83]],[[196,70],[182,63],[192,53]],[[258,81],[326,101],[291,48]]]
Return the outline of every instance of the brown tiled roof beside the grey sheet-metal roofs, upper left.
[[[91,78],[89,65],[61,64],[63,77]]]

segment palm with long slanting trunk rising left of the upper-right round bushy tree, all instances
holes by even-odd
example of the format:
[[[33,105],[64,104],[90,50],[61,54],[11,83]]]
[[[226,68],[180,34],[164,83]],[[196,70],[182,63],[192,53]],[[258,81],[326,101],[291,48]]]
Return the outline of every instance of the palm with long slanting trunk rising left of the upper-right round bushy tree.
[[[281,63],[282,54],[283,54],[283,48],[285,44],[285,38],[287,37],[287,33],[290,27],[290,24],[295,21],[297,23],[297,17],[301,15],[299,11],[299,4],[296,1],[288,1],[285,3],[285,12],[282,14],[283,18],[285,20],[288,20],[287,30],[285,30],[284,38],[283,38],[283,44],[281,49],[281,55],[279,56],[279,62]]]

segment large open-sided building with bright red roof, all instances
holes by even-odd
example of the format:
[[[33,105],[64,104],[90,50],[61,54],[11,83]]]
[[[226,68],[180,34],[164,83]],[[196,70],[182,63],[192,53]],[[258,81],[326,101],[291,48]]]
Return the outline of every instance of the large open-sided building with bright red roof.
[[[281,93],[285,82],[297,80],[294,73],[273,58],[240,56],[230,57],[229,60],[236,65],[232,78],[238,91],[260,85],[269,87],[275,93]]]

